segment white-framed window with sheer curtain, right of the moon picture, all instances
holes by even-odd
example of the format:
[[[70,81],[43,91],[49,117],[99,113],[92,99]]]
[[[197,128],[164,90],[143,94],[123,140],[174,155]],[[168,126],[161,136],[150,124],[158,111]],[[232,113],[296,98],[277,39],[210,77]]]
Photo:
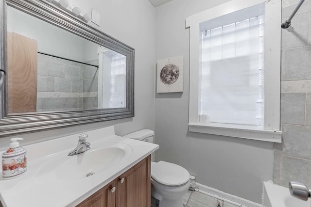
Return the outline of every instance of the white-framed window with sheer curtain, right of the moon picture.
[[[232,0],[187,18],[190,131],[281,141],[280,8]]]

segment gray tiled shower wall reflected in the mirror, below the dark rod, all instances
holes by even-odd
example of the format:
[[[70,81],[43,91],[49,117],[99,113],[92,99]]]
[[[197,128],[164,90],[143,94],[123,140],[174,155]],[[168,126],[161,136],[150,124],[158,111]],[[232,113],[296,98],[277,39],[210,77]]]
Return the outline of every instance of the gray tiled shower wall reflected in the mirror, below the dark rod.
[[[37,73],[37,111],[97,109],[97,68],[38,54]]]

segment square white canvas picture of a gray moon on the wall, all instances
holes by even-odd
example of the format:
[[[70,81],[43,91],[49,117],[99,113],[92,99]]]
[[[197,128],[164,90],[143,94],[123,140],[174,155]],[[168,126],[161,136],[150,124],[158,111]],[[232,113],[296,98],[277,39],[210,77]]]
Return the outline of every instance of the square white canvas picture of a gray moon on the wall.
[[[183,92],[184,56],[157,61],[156,93]]]

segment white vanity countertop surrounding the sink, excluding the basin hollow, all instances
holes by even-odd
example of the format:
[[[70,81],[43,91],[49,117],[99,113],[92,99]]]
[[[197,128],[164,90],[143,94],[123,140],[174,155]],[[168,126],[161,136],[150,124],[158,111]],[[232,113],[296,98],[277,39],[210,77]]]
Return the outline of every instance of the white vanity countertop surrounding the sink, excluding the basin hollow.
[[[68,159],[67,154],[77,145],[78,134],[22,146],[27,149],[27,171],[14,179],[0,177],[0,201],[3,207],[76,206],[159,148],[157,144],[117,136],[114,127],[85,133],[88,135],[86,141],[91,143],[91,150],[84,153],[109,145],[128,146],[128,153],[120,162],[100,173],[81,179],[60,179],[53,173],[55,162],[51,160]],[[79,155],[83,156],[84,153]],[[50,162],[52,164],[49,168]]]

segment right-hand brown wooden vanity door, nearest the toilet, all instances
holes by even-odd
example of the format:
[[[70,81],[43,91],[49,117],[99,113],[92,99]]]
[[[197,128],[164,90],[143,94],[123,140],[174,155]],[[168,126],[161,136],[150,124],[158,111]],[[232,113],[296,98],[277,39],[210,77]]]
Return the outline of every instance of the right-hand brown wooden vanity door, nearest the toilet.
[[[117,178],[117,207],[150,207],[150,165],[151,156]]]

